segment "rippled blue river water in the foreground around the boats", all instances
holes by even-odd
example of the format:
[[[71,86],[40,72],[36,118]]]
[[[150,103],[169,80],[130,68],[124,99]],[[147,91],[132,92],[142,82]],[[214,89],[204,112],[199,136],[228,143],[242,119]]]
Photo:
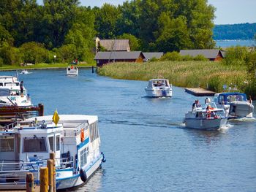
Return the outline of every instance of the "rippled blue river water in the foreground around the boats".
[[[231,121],[221,131],[187,129],[184,114],[198,98],[183,88],[173,87],[171,99],[148,99],[147,82],[79,73],[20,74],[46,115],[99,116],[107,161],[74,191],[256,191],[255,120]]]

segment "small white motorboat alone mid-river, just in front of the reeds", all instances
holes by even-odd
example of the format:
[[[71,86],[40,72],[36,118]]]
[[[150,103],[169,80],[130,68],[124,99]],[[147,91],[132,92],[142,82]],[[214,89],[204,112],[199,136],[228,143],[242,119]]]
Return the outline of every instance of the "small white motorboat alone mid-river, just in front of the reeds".
[[[164,78],[155,78],[148,81],[145,88],[148,97],[171,97],[173,96],[173,88],[169,80]]]

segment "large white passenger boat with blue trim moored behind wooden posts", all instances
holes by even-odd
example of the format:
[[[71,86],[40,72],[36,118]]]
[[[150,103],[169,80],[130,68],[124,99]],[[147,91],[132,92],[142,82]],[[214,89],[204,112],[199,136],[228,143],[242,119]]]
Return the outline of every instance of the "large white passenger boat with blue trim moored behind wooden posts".
[[[59,115],[29,118],[13,130],[0,131],[0,191],[26,187],[26,173],[39,183],[39,168],[56,154],[56,189],[83,185],[105,162],[100,152],[98,118],[92,115]]]

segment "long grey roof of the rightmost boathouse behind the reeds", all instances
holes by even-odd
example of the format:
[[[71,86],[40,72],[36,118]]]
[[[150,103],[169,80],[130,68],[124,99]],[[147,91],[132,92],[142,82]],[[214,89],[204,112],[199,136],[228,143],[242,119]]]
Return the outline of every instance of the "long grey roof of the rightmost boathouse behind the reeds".
[[[220,50],[181,50],[180,51],[180,54],[183,56],[190,55],[192,57],[195,57],[197,55],[203,55],[205,58],[217,58],[217,55],[219,53],[221,53]]]

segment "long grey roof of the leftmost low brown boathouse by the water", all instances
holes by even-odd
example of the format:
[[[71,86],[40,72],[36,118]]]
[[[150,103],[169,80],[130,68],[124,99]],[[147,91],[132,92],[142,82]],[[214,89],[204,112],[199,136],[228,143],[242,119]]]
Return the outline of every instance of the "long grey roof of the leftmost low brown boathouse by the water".
[[[96,60],[108,60],[108,59],[137,59],[143,55],[141,51],[118,51],[118,52],[98,52],[95,55]],[[143,55],[143,58],[145,56]]]

